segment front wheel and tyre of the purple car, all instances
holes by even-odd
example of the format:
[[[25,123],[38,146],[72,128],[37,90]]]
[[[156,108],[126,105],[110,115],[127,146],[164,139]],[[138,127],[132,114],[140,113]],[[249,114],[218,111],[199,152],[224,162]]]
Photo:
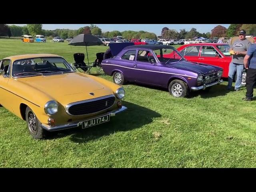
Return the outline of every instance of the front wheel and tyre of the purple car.
[[[187,97],[188,85],[182,80],[173,80],[168,87],[169,93],[174,97]]]

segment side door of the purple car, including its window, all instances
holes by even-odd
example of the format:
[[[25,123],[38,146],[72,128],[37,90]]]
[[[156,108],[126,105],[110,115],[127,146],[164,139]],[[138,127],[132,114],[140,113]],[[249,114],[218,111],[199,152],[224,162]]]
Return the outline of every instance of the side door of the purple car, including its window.
[[[150,50],[140,49],[137,52],[134,63],[134,76],[136,82],[144,84],[160,85],[160,66],[157,65]]]

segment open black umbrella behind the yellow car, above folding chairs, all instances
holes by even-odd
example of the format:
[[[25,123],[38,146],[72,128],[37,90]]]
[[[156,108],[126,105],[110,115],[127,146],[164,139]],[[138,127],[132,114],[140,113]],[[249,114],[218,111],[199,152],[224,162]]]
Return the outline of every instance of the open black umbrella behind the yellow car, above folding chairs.
[[[87,52],[87,46],[94,46],[94,45],[102,45],[102,41],[91,34],[79,34],[78,36],[74,37],[74,39],[72,39],[70,41],[69,45],[73,45],[73,46],[85,46],[86,47],[86,54],[87,54],[87,60],[88,60],[88,64],[89,64],[89,58],[88,58],[88,52]]]

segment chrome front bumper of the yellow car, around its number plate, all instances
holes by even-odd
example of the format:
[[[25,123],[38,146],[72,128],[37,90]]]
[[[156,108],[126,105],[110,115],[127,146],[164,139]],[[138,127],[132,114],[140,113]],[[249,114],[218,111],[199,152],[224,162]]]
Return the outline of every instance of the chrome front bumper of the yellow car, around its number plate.
[[[127,107],[122,106],[120,109],[117,110],[113,110],[110,112],[107,112],[106,114],[110,114],[110,117],[115,116],[116,114],[123,112],[124,110],[126,110]],[[105,115],[106,115],[105,114]],[[99,115],[102,116],[104,114]],[[96,116],[97,117],[97,116]],[[96,117],[92,117],[92,118],[96,118]],[[89,118],[90,119],[90,118]],[[87,119],[81,120],[79,122],[75,122],[75,123],[70,123],[70,124],[65,124],[65,125],[59,125],[59,126],[49,126],[48,124],[41,124],[41,127],[47,131],[58,131],[58,130],[63,130],[63,129],[70,129],[70,128],[75,128],[78,127],[80,125],[82,125],[83,121],[86,121]]]

